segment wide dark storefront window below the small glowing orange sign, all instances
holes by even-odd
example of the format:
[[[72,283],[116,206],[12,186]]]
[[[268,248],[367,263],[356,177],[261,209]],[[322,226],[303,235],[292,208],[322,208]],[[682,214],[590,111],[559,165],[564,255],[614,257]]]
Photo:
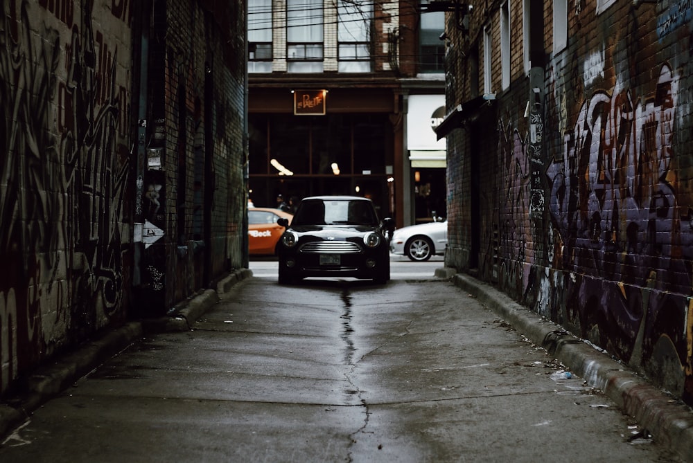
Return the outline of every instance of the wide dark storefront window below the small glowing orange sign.
[[[274,207],[277,194],[285,199],[356,194],[374,199],[379,212],[389,212],[385,159],[391,133],[383,114],[250,114],[249,185],[255,205]]]

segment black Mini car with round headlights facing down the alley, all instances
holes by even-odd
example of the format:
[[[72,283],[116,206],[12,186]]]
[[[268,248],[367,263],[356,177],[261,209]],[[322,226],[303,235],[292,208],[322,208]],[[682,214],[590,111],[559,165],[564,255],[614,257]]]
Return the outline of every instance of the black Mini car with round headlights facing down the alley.
[[[370,199],[353,196],[304,198],[279,243],[279,283],[306,277],[390,278],[392,219],[378,221]]]

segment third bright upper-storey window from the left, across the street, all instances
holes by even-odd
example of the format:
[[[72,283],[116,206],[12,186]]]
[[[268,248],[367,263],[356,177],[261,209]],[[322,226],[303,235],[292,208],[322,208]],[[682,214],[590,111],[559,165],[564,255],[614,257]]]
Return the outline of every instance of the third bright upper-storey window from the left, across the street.
[[[337,3],[337,40],[340,73],[370,72],[370,31],[373,3],[339,0]]]

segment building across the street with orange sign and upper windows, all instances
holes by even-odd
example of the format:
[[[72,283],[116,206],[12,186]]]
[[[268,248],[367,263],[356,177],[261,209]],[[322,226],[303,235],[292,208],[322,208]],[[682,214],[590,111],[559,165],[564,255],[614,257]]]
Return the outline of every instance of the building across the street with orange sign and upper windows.
[[[444,215],[431,125],[444,114],[443,15],[397,0],[250,0],[248,12],[254,205],[356,194],[399,226]]]

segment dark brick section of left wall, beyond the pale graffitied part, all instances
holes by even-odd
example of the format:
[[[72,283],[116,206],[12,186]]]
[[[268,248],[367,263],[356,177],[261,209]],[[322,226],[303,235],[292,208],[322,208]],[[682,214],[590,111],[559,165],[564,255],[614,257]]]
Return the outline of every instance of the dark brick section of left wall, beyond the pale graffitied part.
[[[155,10],[141,298],[158,313],[243,266],[245,8],[168,1]]]

